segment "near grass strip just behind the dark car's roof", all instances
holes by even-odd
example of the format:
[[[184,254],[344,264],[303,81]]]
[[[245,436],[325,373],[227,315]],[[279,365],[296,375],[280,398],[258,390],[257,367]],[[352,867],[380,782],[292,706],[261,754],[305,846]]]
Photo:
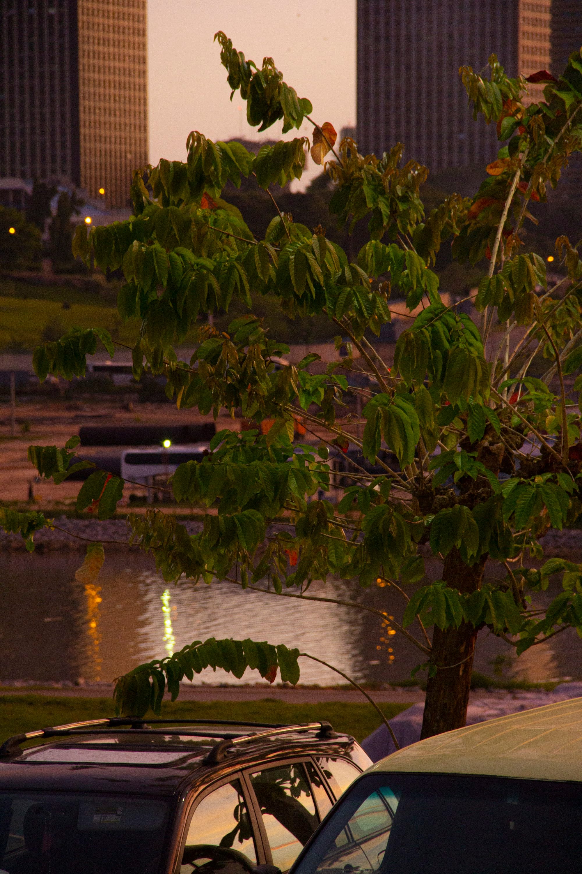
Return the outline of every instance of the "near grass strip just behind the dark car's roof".
[[[406,710],[409,704],[380,704],[388,718]],[[13,734],[31,732],[47,725],[63,725],[83,719],[114,716],[110,698],[67,698],[45,695],[0,696],[0,743]],[[150,714],[151,715],[151,714]],[[164,703],[162,717],[175,719],[233,719],[256,722],[316,722],[325,719],[340,732],[363,740],[380,725],[370,704],[288,704],[263,698],[260,701],[209,701]]]

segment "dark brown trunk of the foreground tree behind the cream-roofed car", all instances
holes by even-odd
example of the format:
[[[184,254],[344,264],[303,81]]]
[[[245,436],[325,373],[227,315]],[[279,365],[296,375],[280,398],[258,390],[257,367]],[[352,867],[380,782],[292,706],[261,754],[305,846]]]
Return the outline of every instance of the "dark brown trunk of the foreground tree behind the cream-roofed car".
[[[469,594],[481,586],[484,565],[484,558],[472,567],[465,565],[453,549],[445,558],[442,577],[451,588]],[[476,635],[468,622],[445,631],[435,626],[432,660],[437,670],[428,677],[421,739],[465,725]]]

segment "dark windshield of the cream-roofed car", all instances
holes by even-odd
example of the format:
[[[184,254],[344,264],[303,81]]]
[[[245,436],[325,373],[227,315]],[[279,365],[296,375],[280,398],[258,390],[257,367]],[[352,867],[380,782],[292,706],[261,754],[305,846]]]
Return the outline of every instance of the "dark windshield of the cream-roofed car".
[[[582,871],[582,785],[370,774],[348,789],[292,874]]]

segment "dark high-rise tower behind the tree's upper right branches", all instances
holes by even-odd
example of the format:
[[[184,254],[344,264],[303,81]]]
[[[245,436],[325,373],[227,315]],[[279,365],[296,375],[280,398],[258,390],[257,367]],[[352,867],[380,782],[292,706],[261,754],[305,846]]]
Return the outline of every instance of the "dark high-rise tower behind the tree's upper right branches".
[[[495,128],[473,121],[459,67],[495,52],[511,76],[547,68],[549,22],[550,0],[358,0],[359,150],[402,142],[433,172],[493,160]]]

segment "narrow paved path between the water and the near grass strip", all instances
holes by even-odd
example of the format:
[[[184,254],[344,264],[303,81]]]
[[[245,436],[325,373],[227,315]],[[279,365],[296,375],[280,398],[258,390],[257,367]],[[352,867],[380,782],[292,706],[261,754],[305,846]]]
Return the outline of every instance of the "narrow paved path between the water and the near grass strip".
[[[50,697],[108,698],[113,694],[113,685],[64,686],[64,687],[0,687],[0,695],[46,695]],[[419,689],[382,690],[370,692],[374,701],[394,704],[415,704],[424,701],[424,692]],[[166,696],[169,698],[169,696]],[[274,698],[291,704],[319,704],[326,701],[343,701],[346,704],[361,703],[366,698],[357,690],[343,689],[280,689],[265,685],[257,686],[182,686],[181,701],[260,701]]]

